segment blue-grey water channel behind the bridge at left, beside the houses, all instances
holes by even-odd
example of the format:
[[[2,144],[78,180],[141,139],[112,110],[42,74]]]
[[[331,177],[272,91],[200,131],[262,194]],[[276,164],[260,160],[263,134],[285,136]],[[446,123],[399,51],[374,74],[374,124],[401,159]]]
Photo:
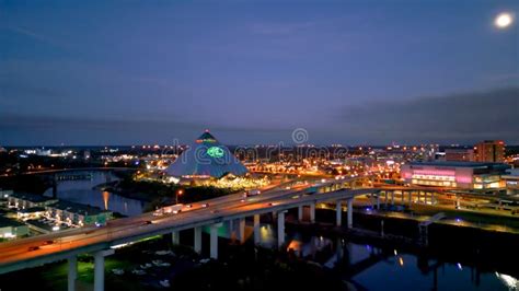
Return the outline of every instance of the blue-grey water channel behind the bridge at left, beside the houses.
[[[80,174],[74,172],[74,174]],[[90,179],[59,181],[57,187],[57,196],[59,199],[71,202],[95,206],[101,209],[107,209],[119,212],[124,216],[137,216],[142,213],[146,202],[135,199],[122,197],[108,191],[93,189],[95,186],[106,183],[107,181],[116,181],[109,172],[88,172]],[[45,191],[44,196],[53,196],[53,189]]]

